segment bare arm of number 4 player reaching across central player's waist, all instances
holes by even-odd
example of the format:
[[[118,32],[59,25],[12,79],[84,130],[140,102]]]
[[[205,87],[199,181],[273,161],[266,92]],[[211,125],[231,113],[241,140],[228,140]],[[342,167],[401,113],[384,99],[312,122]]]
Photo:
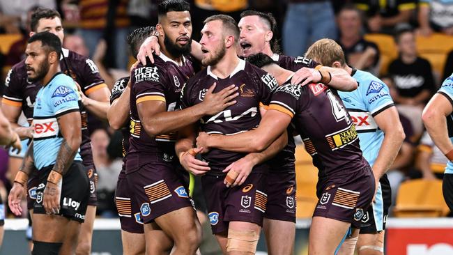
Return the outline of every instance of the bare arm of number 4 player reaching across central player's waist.
[[[229,136],[207,135],[197,139],[197,143],[207,148],[219,148],[238,153],[261,152],[280,137],[291,122],[292,116],[275,109],[269,109],[254,130]]]

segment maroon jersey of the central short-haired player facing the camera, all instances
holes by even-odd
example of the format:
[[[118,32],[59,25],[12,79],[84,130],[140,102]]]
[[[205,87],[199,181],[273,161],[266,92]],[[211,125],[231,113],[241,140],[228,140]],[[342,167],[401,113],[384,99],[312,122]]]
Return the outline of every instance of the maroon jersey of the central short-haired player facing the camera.
[[[208,134],[236,134],[257,127],[261,121],[260,104],[268,105],[272,91],[277,87],[277,81],[272,75],[243,60],[239,61],[236,69],[226,79],[216,77],[210,72],[210,66],[208,66],[187,82],[181,97],[181,108],[191,107],[202,102],[206,91],[214,83],[217,84],[214,93],[231,84],[236,84],[239,86],[240,95],[235,98],[237,101],[235,105],[227,107],[215,116],[201,118],[201,130]],[[217,148],[213,148],[203,155],[211,168],[208,174],[213,175],[222,175],[222,170],[244,156],[244,153],[234,153]],[[267,170],[268,166],[263,164],[255,167],[253,171]]]

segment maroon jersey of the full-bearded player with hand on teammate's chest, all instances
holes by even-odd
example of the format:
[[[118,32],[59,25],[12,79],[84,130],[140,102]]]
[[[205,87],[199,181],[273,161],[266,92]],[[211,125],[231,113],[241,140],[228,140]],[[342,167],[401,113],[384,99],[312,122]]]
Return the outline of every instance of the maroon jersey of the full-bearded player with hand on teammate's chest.
[[[137,171],[139,166],[151,162],[149,155],[162,155],[173,160],[177,132],[150,137],[141,128],[137,104],[148,100],[160,100],[166,103],[167,111],[174,111],[181,95],[183,84],[194,75],[192,61],[183,59],[183,65],[169,59],[164,54],[154,56],[154,63],[137,65],[132,70],[130,91],[130,148],[128,160],[137,160],[137,167],[126,169],[128,173]]]

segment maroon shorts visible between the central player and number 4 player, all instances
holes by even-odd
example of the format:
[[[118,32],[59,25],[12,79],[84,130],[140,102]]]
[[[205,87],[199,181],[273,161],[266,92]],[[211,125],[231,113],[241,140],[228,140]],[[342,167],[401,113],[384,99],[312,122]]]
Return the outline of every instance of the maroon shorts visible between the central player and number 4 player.
[[[295,222],[295,172],[268,173],[267,219]]]

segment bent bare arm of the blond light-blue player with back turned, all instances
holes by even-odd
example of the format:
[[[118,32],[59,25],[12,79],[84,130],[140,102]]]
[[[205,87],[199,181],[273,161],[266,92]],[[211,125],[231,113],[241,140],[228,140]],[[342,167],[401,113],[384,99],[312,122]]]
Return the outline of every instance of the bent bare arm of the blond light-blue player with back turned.
[[[406,135],[399,121],[397,107],[392,106],[381,111],[374,116],[374,121],[384,132],[383,143],[373,165],[374,178],[378,181],[390,169]]]

